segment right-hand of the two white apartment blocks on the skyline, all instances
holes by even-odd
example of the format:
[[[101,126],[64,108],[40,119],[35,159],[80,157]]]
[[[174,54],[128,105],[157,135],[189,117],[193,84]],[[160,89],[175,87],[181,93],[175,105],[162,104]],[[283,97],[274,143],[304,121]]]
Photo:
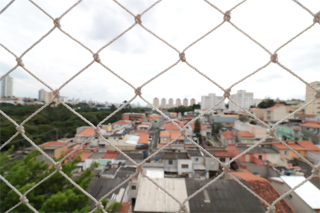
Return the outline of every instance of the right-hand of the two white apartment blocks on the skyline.
[[[253,92],[238,90],[236,94],[230,95],[230,98],[244,109],[250,109],[253,106]],[[229,111],[241,111],[239,107],[229,101]]]

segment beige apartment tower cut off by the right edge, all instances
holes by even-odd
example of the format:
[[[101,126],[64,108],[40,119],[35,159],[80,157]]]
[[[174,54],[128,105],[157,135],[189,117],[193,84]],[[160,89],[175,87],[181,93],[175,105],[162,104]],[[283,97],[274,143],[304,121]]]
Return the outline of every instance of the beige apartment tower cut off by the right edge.
[[[320,81],[313,81],[310,83],[312,86],[314,86],[316,89],[320,87]],[[2,94],[2,93],[1,93]],[[306,85],[306,102],[308,103],[314,98],[315,92]],[[316,99],[313,103],[309,104],[304,108],[305,114],[313,114],[313,115],[320,115],[320,101],[319,99]]]

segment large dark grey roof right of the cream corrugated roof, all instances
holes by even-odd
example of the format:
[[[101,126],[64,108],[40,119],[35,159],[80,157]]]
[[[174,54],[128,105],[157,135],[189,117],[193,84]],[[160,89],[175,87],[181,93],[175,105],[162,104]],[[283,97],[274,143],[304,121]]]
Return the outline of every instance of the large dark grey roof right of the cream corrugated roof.
[[[188,196],[209,181],[211,180],[186,179]],[[245,181],[241,182],[250,188]],[[257,197],[235,180],[219,179],[205,190],[189,200],[190,212],[266,212],[267,210]]]

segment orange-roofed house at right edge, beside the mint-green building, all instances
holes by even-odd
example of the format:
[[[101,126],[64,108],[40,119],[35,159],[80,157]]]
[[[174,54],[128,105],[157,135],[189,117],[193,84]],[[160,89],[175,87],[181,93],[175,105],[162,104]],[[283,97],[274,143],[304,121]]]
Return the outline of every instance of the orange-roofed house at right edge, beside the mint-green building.
[[[299,124],[303,137],[308,138],[316,144],[320,144],[320,121],[307,121]]]

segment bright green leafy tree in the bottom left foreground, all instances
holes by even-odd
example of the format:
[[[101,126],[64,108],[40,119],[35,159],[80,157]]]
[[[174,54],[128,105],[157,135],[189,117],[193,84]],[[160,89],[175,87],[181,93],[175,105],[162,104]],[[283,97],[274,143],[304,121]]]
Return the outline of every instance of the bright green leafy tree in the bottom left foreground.
[[[28,153],[23,160],[10,162],[11,159],[8,155],[12,150],[13,146],[8,151],[0,153],[1,175],[22,194],[55,171],[53,166],[49,167],[44,161],[34,160],[40,154],[38,150]],[[57,162],[61,158],[62,156],[54,160]],[[80,161],[81,158],[78,156],[71,162],[63,164],[62,171],[71,178],[72,170],[76,169],[76,164]],[[76,184],[86,190],[92,177],[94,177],[92,170],[97,166],[97,164],[92,164],[79,178],[74,180]],[[0,187],[0,210],[5,212],[19,203],[20,197],[3,181],[1,181]],[[39,212],[89,211],[89,197],[72,185],[59,172],[31,190],[26,197],[29,204]],[[32,210],[27,205],[21,204],[11,212],[32,212]]]

